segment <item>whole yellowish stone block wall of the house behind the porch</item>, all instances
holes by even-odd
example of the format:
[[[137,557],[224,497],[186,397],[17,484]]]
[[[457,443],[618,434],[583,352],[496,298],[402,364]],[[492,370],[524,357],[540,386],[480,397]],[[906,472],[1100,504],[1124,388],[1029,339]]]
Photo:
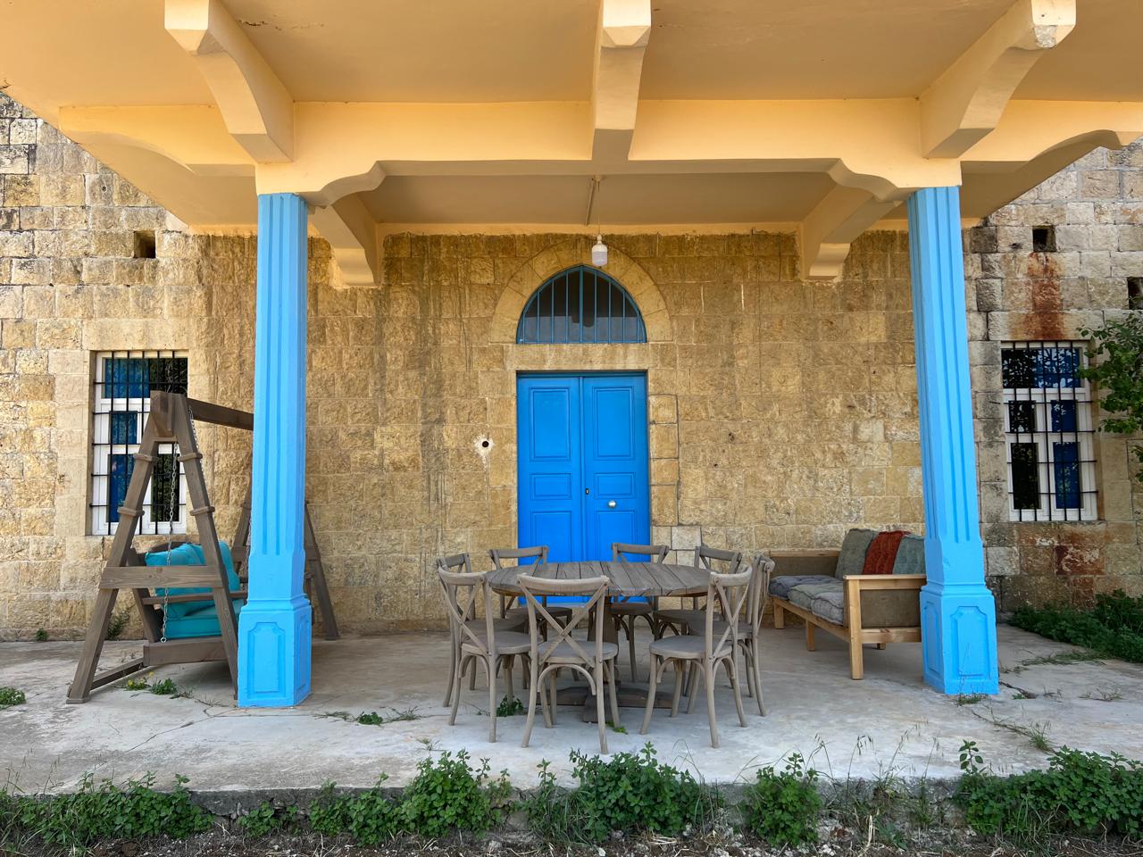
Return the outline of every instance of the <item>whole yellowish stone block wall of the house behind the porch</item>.
[[[1076,194],[1106,184],[1089,171],[1070,170]],[[1126,168],[1102,173],[1111,171],[1138,179]],[[1068,175],[1040,193],[1063,193]],[[192,395],[249,407],[255,243],[190,234],[2,97],[0,193],[0,639],[39,628],[74,636],[110,546],[87,535],[93,353],[185,350]],[[1041,278],[1033,265],[1062,272],[1061,313],[1126,301],[1112,286],[1122,270],[1111,266],[1134,264],[1120,241],[1132,240],[1124,237],[1137,213],[1085,199],[1052,209],[1057,219],[1046,222],[1060,224],[1061,251],[1050,261],[1010,249],[1026,239],[1005,231],[1039,225],[1048,213],[1037,199],[970,235],[983,508],[1004,606],[1069,584],[1137,590],[1140,578],[1141,503],[1137,489],[1129,494],[1121,441],[1101,446],[1101,479],[1111,486],[1104,508],[1117,515],[1106,522],[1007,524],[996,502],[997,343],[1024,323],[1022,311],[1042,309],[1030,303]],[[1085,216],[1092,230],[1069,238],[1068,218]],[[1097,226],[1117,231],[1114,254],[1065,247],[1111,241]],[[133,258],[137,230],[154,230],[157,258]],[[902,233],[863,237],[836,283],[797,279],[789,234],[609,243],[607,270],[645,313],[646,345],[514,344],[531,290],[589,259],[584,237],[392,235],[385,285],[350,289],[331,285],[328,247],[311,241],[307,491],[345,630],[440,625],[433,559],[470,551],[482,568],[489,547],[514,544],[518,371],[647,373],[652,536],[685,558],[700,535],[753,551],[836,546],[852,526],[922,529]],[[1108,270],[1081,270],[1098,253]],[[203,427],[200,440],[229,534],[248,484],[249,439]],[[1128,506],[1116,506],[1125,489]],[[1096,545],[1098,585],[1082,583],[1095,572],[1081,580],[1046,570],[1045,538]]]

